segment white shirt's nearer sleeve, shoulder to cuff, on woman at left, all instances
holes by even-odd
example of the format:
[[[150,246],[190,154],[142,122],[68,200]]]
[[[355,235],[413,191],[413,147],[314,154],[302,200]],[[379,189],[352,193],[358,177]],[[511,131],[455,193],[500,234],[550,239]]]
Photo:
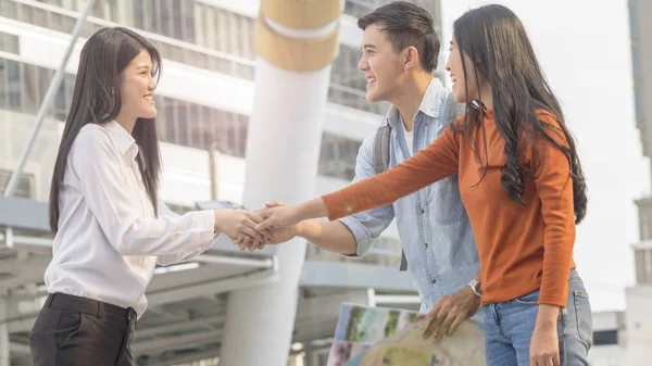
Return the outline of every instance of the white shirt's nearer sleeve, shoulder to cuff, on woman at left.
[[[120,254],[188,253],[213,241],[214,211],[142,217],[140,203],[124,185],[123,177],[131,174],[121,165],[126,157],[118,154],[103,129],[82,130],[71,157],[86,204]]]

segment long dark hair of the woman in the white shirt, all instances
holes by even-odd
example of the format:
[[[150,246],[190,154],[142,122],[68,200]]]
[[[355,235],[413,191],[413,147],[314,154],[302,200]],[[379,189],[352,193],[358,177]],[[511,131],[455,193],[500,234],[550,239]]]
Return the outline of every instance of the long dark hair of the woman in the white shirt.
[[[121,73],[142,50],[149,52],[153,64],[152,75],[158,78],[161,54],[147,39],[127,28],[102,28],[92,35],[82,49],[73,102],[59,146],[50,187],[50,228],[53,234],[59,230],[59,191],[73,142],[85,125],[101,125],[115,119],[122,106]],[[138,153],[142,154],[142,159],[136,161],[158,215],[156,190],[161,156],[154,119],[138,118],[131,136],[138,144]]]

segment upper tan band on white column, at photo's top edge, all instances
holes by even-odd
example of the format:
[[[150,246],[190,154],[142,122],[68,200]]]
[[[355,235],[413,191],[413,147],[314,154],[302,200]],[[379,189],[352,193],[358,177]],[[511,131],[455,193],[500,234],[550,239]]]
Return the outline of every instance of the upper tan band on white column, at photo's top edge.
[[[261,0],[261,13],[288,28],[322,28],[337,20],[341,0]]]

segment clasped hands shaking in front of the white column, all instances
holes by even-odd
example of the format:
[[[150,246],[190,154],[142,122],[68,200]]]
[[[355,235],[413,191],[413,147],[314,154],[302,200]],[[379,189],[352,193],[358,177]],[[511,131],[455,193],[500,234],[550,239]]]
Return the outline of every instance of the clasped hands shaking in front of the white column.
[[[297,216],[294,207],[276,201],[255,211],[216,210],[215,230],[228,236],[241,251],[253,252],[296,237],[296,224],[300,222]]]

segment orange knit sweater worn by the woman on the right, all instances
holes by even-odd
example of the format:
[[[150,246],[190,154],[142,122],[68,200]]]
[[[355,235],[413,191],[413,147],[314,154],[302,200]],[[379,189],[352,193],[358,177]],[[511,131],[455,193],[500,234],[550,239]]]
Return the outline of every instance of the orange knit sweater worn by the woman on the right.
[[[548,112],[539,119],[555,130],[549,132],[566,144],[559,123]],[[524,179],[525,205],[510,199],[501,186],[505,165],[504,140],[488,111],[472,139],[447,129],[429,147],[386,173],[323,195],[329,219],[391,203],[452,174],[459,174],[462,201],[473,227],[482,277],[482,304],[505,302],[540,290],[539,304],[565,306],[568,273],[575,268],[575,215],[573,181],[565,155],[549,141],[537,139],[535,148],[525,137],[521,147],[536,169]],[[559,130],[559,134],[556,132]],[[487,149],[481,141],[487,141]],[[485,177],[472,142],[487,163]],[[478,184],[479,182],[479,184]]]

